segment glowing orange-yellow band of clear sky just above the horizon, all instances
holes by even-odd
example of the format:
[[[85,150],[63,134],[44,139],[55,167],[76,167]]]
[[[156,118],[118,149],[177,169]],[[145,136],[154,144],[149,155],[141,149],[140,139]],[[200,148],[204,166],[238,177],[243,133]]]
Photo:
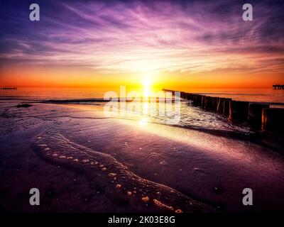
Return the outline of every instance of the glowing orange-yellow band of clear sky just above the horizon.
[[[283,83],[283,74],[234,74],[206,72],[137,72],[129,74],[97,74],[87,68],[2,67],[1,87],[149,87],[182,88],[266,88]]]

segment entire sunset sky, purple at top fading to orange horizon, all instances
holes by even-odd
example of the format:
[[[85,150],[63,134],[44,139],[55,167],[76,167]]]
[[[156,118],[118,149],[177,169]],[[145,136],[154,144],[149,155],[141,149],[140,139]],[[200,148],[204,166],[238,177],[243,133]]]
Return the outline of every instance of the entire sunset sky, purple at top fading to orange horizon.
[[[1,87],[284,83],[283,1],[1,0],[0,26]]]

